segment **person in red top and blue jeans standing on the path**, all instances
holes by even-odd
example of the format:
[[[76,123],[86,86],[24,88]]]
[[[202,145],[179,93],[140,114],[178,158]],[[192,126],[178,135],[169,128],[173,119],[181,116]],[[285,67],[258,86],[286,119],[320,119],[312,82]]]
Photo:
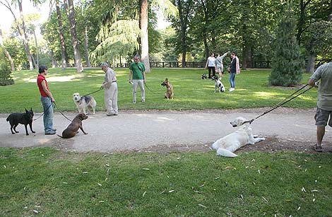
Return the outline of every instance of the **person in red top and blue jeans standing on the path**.
[[[40,92],[40,101],[42,102],[42,107],[44,109],[44,131],[45,135],[54,135],[56,134],[57,129],[53,128],[53,105],[55,102],[51,91],[49,91],[49,86],[47,85],[47,81],[45,76],[47,76],[47,66],[39,67],[39,74],[37,76],[37,86]]]

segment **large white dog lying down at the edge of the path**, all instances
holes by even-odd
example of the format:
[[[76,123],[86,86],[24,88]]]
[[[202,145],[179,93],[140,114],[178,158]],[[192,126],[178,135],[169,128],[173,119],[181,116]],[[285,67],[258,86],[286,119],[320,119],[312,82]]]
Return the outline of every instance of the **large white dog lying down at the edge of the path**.
[[[237,117],[233,122],[230,122],[233,127],[237,127],[237,131],[228,134],[212,144],[212,148],[217,151],[218,156],[237,157],[234,151],[247,144],[254,145],[265,138],[259,138],[257,135],[252,134],[249,121],[243,117]]]

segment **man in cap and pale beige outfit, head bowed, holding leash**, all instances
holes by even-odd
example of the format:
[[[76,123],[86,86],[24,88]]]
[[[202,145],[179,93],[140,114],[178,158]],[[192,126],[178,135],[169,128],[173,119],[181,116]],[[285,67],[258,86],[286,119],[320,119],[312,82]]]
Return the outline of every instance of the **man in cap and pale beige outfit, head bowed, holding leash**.
[[[104,62],[102,66],[102,71],[105,71],[104,83],[100,88],[105,89],[105,107],[107,109],[107,116],[118,115],[117,110],[117,76],[115,71],[109,68],[109,65]]]

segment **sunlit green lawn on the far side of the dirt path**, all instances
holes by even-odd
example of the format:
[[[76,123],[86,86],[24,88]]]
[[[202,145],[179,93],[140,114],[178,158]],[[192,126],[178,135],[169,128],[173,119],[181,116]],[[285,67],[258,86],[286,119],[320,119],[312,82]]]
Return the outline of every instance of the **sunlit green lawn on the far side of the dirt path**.
[[[146,102],[132,103],[131,84],[128,83],[128,69],[116,69],[119,87],[119,110],[206,110],[273,107],[294,88],[268,86],[270,70],[242,70],[236,76],[236,90],[232,93],[214,93],[214,81],[202,80],[201,74],[206,69],[151,69],[147,74]],[[15,71],[12,73],[15,85],[0,86],[0,113],[23,112],[32,107],[35,112],[42,112],[40,93],[37,89],[37,71]],[[160,83],[170,79],[174,86],[174,100],[164,98],[165,88]],[[223,77],[226,90],[230,88],[229,74]],[[302,83],[307,83],[309,74],[304,74]],[[47,81],[57,102],[59,111],[76,111],[73,93],[86,95],[98,90],[104,79],[101,69],[85,69],[77,73],[75,69],[49,69]],[[138,88],[139,89],[139,88]],[[104,111],[104,90],[93,93],[97,101],[97,111]],[[316,90],[309,90],[295,100],[287,102],[285,107],[309,108],[316,106]],[[57,112],[57,110],[55,110]]]

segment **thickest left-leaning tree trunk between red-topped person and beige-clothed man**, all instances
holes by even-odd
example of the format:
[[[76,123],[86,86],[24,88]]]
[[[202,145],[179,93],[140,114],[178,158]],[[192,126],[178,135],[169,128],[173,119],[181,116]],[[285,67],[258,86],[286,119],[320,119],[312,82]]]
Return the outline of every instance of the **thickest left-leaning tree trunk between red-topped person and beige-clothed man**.
[[[66,4],[66,0],[65,0]],[[75,20],[75,8],[73,6],[73,0],[68,0],[68,8],[69,8],[69,23],[71,27],[71,40],[73,42],[73,54],[75,58],[75,66],[77,67],[77,72],[83,71],[81,52],[78,49],[78,40],[76,35],[76,20]]]

